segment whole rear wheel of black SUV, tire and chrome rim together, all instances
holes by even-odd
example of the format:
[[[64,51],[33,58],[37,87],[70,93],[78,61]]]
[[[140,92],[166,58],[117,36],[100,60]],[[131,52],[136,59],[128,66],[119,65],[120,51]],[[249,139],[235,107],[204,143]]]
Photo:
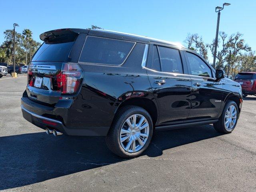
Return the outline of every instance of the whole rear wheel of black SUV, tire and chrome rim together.
[[[142,154],[153,134],[150,114],[138,106],[124,106],[116,114],[106,137],[108,148],[123,158]]]

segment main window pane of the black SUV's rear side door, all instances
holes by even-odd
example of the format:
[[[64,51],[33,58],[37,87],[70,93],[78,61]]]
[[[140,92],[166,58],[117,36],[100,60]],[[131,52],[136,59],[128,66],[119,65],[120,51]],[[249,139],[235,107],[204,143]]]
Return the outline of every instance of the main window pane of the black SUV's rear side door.
[[[158,46],[162,72],[183,73],[180,53],[176,49]]]

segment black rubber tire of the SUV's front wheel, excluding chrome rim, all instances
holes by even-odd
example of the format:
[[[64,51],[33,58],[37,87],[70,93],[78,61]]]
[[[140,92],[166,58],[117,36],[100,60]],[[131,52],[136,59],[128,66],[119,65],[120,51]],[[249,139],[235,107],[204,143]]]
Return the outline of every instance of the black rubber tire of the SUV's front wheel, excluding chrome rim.
[[[233,128],[229,130],[225,126],[225,114],[226,114],[226,111],[228,110],[228,108],[231,105],[235,106],[237,115],[236,115],[236,122],[235,122]],[[236,102],[231,101],[231,100],[227,101],[218,122],[213,124],[214,129],[218,132],[221,132],[221,133],[231,133],[234,130],[234,128],[236,127],[236,124],[237,124],[237,121],[238,121],[238,119],[237,119],[238,115],[239,115],[239,111],[238,111],[238,106],[237,106]]]

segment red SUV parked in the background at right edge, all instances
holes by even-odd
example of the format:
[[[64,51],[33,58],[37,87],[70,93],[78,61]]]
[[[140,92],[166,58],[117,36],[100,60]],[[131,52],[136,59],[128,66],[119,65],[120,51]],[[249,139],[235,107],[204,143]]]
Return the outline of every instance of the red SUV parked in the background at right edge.
[[[256,72],[240,72],[236,75],[234,81],[242,86],[243,96],[256,96]]]

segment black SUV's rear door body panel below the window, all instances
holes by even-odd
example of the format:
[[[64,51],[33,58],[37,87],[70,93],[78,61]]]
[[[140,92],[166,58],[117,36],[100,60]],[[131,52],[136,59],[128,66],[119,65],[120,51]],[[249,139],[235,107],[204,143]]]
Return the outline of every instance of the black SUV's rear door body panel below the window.
[[[152,91],[159,106],[158,124],[185,120],[190,111],[191,80],[189,76],[162,74],[147,70]],[[156,83],[165,81],[166,83]]]

